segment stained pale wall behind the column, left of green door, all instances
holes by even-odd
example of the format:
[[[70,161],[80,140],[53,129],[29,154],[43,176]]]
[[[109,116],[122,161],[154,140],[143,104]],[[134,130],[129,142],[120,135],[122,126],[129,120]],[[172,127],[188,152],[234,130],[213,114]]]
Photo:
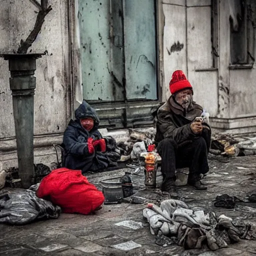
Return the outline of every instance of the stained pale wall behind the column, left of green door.
[[[49,0],[46,15],[32,52],[47,54],[37,60],[34,95],[35,161],[52,154],[50,144],[61,141],[70,116],[70,69],[67,1]],[[37,8],[29,0],[0,0],[0,53],[17,50],[34,26]],[[30,49],[29,49],[30,50]],[[28,51],[29,51],[28,50]],[[16,158],[8,62],[0,59],[0,157],[2,168]],[[44,152],[42,153],[44,149]],[[37,157],[37,158],[36,158]],[[0,166],[1,167],[1,166]],[[1,169],[1,168],[0,168]]]

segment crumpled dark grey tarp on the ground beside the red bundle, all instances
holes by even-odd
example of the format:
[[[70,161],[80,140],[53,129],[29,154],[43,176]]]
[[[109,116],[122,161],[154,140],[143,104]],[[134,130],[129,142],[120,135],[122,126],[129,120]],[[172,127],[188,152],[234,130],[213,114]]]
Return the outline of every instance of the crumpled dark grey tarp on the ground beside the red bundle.
[[[30,189],[36,189],[36,185],[0,199],[0,223],[25,225],[34,220],[58,218],[60,207],[38,198]]]

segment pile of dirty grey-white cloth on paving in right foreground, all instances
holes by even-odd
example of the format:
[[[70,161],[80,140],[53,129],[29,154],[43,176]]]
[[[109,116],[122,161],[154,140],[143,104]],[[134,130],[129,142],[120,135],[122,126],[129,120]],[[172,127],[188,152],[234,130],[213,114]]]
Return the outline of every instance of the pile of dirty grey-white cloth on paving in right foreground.
[[[255,240],[256,225],[236,223],[232,219],[214,212],[192,210],[180,200],[164,200],[160,207],[148,204],[143,216],[149,222],[150,231],[156,235],[156,243],[176,243],[185,249],[202,248],[211,250],[225,248],[240,239]],[[161,243],[160,243],[160,242]]]

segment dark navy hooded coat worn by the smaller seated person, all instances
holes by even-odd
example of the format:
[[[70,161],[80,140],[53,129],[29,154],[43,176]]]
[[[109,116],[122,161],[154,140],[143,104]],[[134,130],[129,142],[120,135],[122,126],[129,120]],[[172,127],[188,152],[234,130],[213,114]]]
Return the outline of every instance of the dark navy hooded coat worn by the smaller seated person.
[[[92,118],[93,128],[88,131],[80,124],[80,118]],[[100,139],[102,135],[98,131],[99,119],[96,111],[85,101],[75,110],[75,120],[70,120],[63,135],[62,147],[65,150],[63,166],[69,169],[97,171],[115,164],[102,152],[88,152],[87,140],[89,137]]]

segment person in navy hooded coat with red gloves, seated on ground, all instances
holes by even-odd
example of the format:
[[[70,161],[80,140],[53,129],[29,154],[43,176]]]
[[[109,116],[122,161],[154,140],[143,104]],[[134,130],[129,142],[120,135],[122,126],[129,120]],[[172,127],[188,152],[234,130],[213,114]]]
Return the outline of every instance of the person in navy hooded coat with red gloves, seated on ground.
[[[95,110],[85,101],[75,110],[63,135],[65,150],[63,166],[82,173],[116,166],[104,152],[113,148],[114,139],[102,138],[98,131],[99,119]],[[110,150],[109,149],[109,150]]]

